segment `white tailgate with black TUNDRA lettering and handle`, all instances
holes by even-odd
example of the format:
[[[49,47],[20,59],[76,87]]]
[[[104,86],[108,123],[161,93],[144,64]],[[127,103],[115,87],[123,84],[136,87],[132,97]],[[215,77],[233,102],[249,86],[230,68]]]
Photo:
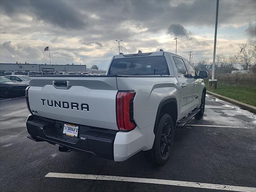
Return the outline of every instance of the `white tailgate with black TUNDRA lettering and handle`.
[[[34,115],[118,130],[116,77],[32,77],[30,86]]]

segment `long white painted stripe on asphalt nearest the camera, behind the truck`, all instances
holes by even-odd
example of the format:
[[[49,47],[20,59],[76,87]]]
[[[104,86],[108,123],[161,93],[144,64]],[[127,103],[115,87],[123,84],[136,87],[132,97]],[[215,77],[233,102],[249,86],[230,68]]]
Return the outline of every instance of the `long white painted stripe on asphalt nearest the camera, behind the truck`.
[[[230,185],[218,185],[218,184],[209,184],[209,183],[149,179],[149,178],[105,176],[105,175],[51,173],[50,172],[45,177],[150,183],[150,184],[173,185],[173,186],[182,186],[182,187],[195,187],[195,188],[203,188],[203,189],[216,189],[216,190],[239,191],[239,192],[255,192],[256,190],[256,188],[252,188],[252,187],[240,187],[240,186],[230,186]]]

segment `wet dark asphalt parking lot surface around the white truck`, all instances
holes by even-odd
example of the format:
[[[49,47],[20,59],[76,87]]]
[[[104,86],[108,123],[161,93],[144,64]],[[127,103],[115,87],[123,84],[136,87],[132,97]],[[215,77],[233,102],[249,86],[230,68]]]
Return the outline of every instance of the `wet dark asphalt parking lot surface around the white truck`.
[[[113,162],[33,142],[26,138],[28,114],[25,98],[0,101],[3,192],[256,191],[256,115],[213,96],[207,95],[201,120],[175,131],[162,167],[147,162],[143,152]]]

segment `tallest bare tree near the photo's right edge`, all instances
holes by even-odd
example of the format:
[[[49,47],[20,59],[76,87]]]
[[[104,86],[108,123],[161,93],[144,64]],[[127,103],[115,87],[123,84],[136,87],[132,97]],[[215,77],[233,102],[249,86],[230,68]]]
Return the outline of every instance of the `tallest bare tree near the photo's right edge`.
[[[253,58],[253,49],[248,44],[240,44],[239,48],[239,64],[243,70],[248,70],[251,60]]]

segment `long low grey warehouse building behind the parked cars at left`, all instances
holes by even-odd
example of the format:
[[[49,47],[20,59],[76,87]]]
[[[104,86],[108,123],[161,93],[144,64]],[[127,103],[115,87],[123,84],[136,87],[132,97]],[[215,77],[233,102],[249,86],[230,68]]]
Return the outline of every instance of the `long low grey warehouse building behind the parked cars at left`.
[[[0,63],[0,71],[66,71],[86,72],[86,65],[46,65],[46,64],[18,64]]]

